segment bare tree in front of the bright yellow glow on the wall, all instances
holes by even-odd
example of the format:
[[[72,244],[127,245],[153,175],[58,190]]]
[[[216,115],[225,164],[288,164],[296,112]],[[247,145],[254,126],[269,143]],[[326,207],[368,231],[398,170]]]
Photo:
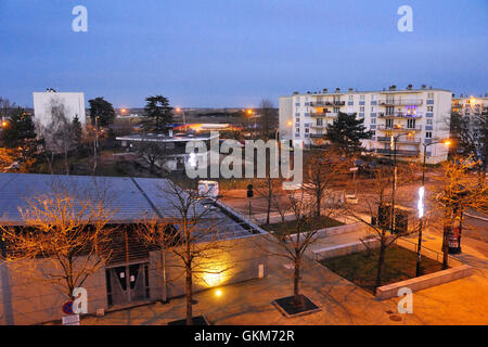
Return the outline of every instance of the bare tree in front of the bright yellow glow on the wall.
[[[176,183],[166,182],[165,187],[160,187],[160,193],[167,198],[169,207],[163,208],[174,216],[147,218],[138,233],[147,244],[170,252],[181,261],[181,265],[171,266],[183,269],[185,321],[192,325],[194,281],[208,274],[221,275],[233,267],[231,261],[222,260],[226,258],[222,253],[232,249],[232,241],[227,240],[229,226],[221,224],[221,217],[213,213],[213,204],[202,204],[202,196],[196,191],[183,191]]]

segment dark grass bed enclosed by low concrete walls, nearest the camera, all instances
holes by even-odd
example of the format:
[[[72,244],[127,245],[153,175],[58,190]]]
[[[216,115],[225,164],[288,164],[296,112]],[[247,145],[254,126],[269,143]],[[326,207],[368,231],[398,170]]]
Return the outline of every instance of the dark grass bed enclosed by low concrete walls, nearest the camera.
[[[380,248],[370,252],[358,252],[320,261],[346,280],[373,292],[376,282],[376,269]],[[386,248],[383,264],[383,285],[404,281],[415,277],[416,253],[407,248],[391,245]],[[422,257],[424,274],[442,269],[442,264],[431,258]]]

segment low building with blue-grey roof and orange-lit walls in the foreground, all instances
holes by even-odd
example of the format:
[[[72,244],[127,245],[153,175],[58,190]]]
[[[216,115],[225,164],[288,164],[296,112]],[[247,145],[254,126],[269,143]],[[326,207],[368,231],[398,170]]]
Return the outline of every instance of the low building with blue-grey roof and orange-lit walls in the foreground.
[[[28,208],[28,201],[35,196],[49,198],[60,187],[80,192],[103,191],[107,196],[103,200],[104,208],[113,211],[110,220],[114,229],[112,255],[82,285],[88,292],[89,313],[94,313],[97,309],[110,310],[184,294],[181,260],[170,252],[147,246],[133,232],[134,227],[153,217],[160,222],[178,226],[175,221],[181,216],[175,208],[177,197],[169,193],[168,188],[174,185],[168,180],[0,174],[0,224],[22,228],[25,220],[21,209]],[[211,224],[211,232],[217,234],[211,242],[232,244],[232,252],[222,255],[232,267],[217,277],[206,277],[204,273],[194,279],[194,291],[265,277],[268,257],[264,248],[256,245],[264,242],[266,231],[219,202],[209,205],[204,200],[197,203],[195,210],[205,208],[208,213],[198,228],[208,231]],[[202,237],[200,242],[205,244],[207,241]],[[60,320],[66,295],[55,286],[25,275],[18,267],[12,267],[14,260],[5,260],[5,245],[1,241],[0,249],[0,324]],[[47,266],[44,259],[36,260],[36,271],[42,271]]]

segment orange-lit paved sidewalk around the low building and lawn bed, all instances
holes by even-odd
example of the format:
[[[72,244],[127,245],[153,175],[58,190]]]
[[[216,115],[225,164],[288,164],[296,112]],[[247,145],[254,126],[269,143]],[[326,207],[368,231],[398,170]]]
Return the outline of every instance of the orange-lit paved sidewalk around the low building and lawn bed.
[[[350,234],[331,236],[329,243],[345,242]],[[425,246],[437,248],[439,237],[426,233]],[[301,293],[322,307],[322,311],[293,319],[283,317],[272,305],[275,298],[293,293],[293,269],[281,257],[270,257],[269,275],[195,294],[194,313],[205,314],[213,324],[488,324],[488,259],[465,247],[463,261],[476,267],[473,277],[413,294],[413,313],[398,314],[398,299],[384,301],[342,279],[320,264],[306,259],[303,265]],[[401,321],[390,319],[400,316]],[[184,317],[184,298],[170,304],[151,304],[105,317],[90,317],[82,324],[166,324]]]

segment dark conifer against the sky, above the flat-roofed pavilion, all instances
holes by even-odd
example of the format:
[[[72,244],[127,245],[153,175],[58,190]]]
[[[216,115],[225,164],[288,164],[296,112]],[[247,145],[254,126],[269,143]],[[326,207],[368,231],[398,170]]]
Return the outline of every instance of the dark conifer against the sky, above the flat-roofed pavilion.
[[[145,132],[165,132],[172,123],[172,107],[169,100],[163,95],[145,99],[144,116],[141,125]]]

